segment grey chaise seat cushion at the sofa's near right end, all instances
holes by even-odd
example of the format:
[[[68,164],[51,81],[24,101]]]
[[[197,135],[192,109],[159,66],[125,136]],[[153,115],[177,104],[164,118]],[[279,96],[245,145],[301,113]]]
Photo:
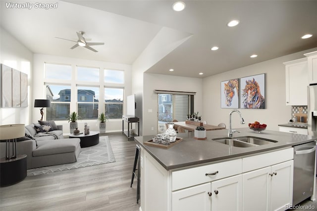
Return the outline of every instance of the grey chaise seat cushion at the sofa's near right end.
[[[36,150],[33,151],[33,156],[47,156],[61,153],[75,152],[80,144],[80,139],[58,139],[51,141],[41,141]]]

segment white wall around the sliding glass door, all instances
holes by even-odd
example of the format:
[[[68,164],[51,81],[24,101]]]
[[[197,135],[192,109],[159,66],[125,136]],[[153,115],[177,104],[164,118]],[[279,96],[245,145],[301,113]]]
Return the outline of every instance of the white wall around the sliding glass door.
[[[203,112],[203,79],[144,73],[143,135],[156,135],[158,128],[158,94],[154,90],[196,92],[194,110]],[[151,111],[152,110],[152,111]],[[152,130],[153,127],[153,130]]]

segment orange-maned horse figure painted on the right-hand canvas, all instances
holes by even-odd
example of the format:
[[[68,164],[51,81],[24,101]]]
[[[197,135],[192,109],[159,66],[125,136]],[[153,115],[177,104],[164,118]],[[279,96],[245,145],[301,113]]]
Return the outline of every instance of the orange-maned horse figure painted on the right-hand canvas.
[[[244,108],[265,108],[264,96],[261,95],[260,85],[254,78],[246,80],[246,86],[242,90],[241,96]]]

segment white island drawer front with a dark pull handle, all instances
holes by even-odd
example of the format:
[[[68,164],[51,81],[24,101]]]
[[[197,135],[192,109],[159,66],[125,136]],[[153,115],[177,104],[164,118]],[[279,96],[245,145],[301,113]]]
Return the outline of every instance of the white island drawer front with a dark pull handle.
[[[172,171],[172,191],[240,173],[242,173],[242,159]]]

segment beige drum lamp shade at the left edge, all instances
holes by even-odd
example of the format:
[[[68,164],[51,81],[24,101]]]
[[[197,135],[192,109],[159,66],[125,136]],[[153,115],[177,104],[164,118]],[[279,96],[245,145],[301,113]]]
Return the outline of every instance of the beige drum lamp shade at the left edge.
[[[21,138],[25,135],[24,124],[0,125],[0,140]]]

